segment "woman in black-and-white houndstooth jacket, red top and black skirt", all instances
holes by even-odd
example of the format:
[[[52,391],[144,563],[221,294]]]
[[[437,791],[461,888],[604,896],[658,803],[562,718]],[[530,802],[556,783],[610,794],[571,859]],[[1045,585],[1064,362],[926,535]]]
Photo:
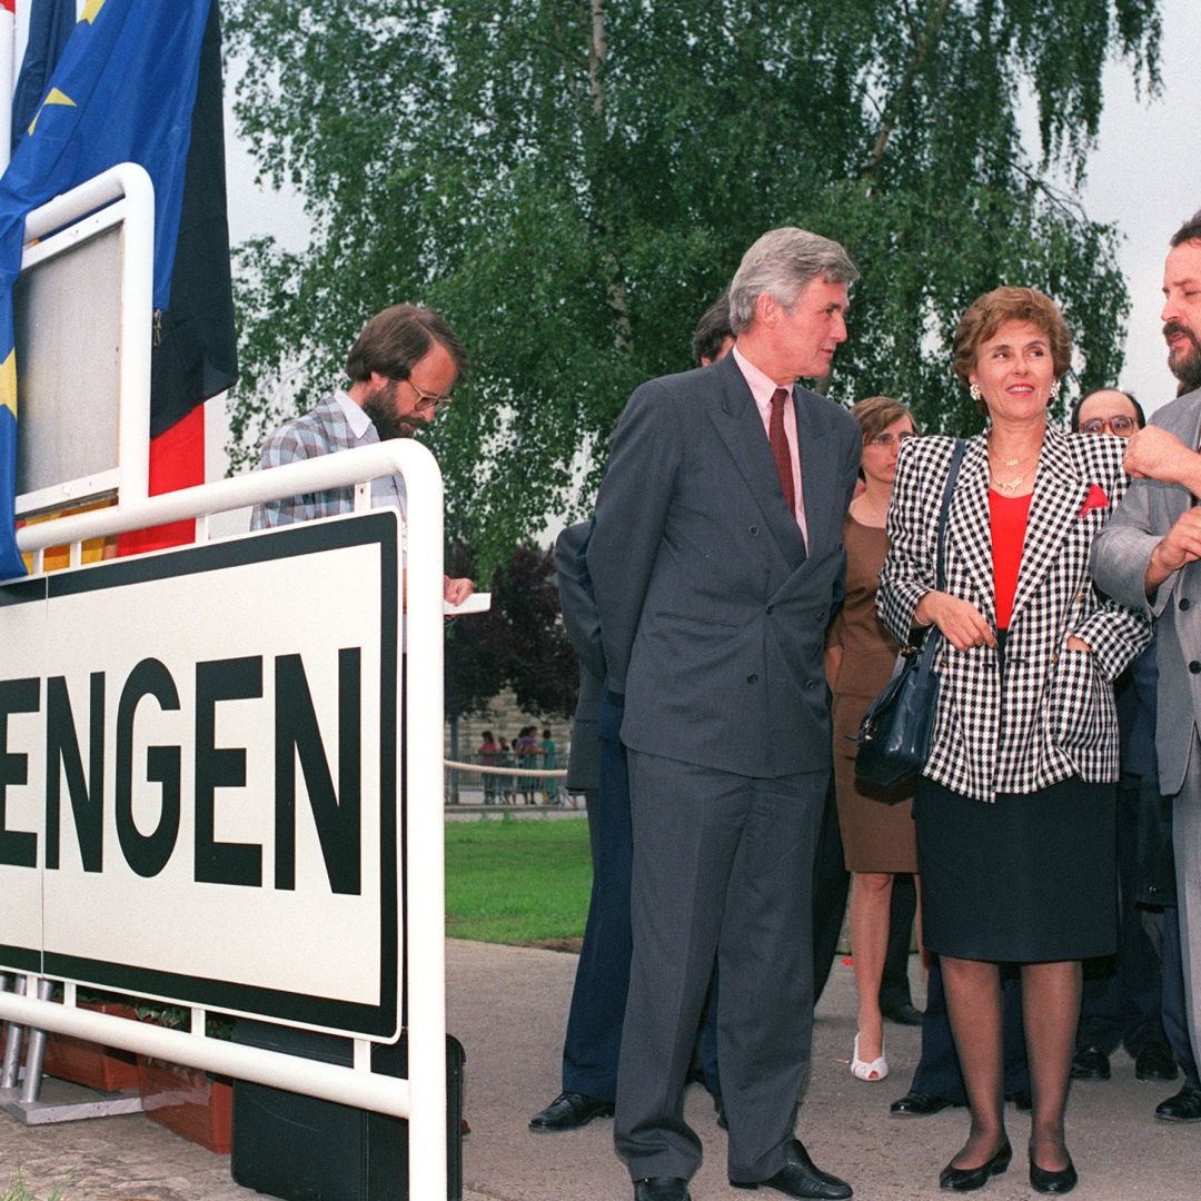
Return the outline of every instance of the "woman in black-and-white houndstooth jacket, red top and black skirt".
[[[999,964],[1021,964],[1034,1112],[1030,1183],[1076,1183],[1064,1142],[1080,961],[1116,938],[1112,680],[1146,622],[1100,597],[1088,552],[1125,491],[1119,438],[1064,435],[1047,406],[1071,339],[1030,288],[976,300],[955,337],[984,434],[967,446],[936,591],[938,514],[954,440],[914,438],[897,466],[880,620],[944,638],[930,759],[914,797],[922,926],[942,957],[972,1110],[939,1183],[980,1188],[1009,1166]]]

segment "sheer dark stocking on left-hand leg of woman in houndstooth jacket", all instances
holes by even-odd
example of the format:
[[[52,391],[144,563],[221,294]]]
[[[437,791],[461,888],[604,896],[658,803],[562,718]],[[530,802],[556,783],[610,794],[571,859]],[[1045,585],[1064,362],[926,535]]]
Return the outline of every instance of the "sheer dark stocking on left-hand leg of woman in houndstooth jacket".
[[[1000,969],[996,963],[946,955],[942,956],[942,964],[946,1010],[972,1111],[968,1141],[951,1164],[980,1167],[1005,1141]]]

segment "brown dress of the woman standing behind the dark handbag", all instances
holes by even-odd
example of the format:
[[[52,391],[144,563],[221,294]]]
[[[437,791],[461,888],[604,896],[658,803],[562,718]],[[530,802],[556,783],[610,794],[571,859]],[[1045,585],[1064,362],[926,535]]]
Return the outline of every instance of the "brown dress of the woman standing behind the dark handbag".
[[[916,872],[912,791],[885,791],[855,778],[855,735],[867,706],[889,681],[900,646],[876,616],[888,538],[853,516],[843,527],[847,598],[827,646],[842,647],[833,682],[833,778],[848,872]]]

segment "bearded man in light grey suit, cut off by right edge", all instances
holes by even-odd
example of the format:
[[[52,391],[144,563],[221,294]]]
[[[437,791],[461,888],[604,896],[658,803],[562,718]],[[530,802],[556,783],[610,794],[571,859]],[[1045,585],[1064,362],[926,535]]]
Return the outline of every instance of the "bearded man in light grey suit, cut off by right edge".
[[[1093,546],[1098,587],[1157,619],[1159,788],[1175,796],[1172,841],[1185,1009],[1201,1047],[1201,211],[1164,267],[1167,365],[1184,392],[1130,438],[1130,491]],[[1201,609],[1199,609],[1201,613]],[[1185,1098],[1184,1100],[1189,1100]],[[1197,1105],[1201,1116],[1201,1105]]]

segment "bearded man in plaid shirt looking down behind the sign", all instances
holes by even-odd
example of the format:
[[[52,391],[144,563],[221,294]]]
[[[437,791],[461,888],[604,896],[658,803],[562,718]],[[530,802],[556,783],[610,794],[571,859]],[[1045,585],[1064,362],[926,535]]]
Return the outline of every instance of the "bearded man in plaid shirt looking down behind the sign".
[[[337,388],[316,407],[275,430],[263,443],[261,467],[370,446],[387,438],[411,438],[450,404],[450,392],[467,365],[467,352],[446,318],[432,309],[399,304],[376,313],[363,327],[346,360],[348,388]],[[383,476],[371,484],[371,503],[392,506],[405,516],[405,482]],[[251,530],[292,525],[351,513],[349,484],[256,504]],[[447,578],[444,597],[460,604],[471,580]]]

